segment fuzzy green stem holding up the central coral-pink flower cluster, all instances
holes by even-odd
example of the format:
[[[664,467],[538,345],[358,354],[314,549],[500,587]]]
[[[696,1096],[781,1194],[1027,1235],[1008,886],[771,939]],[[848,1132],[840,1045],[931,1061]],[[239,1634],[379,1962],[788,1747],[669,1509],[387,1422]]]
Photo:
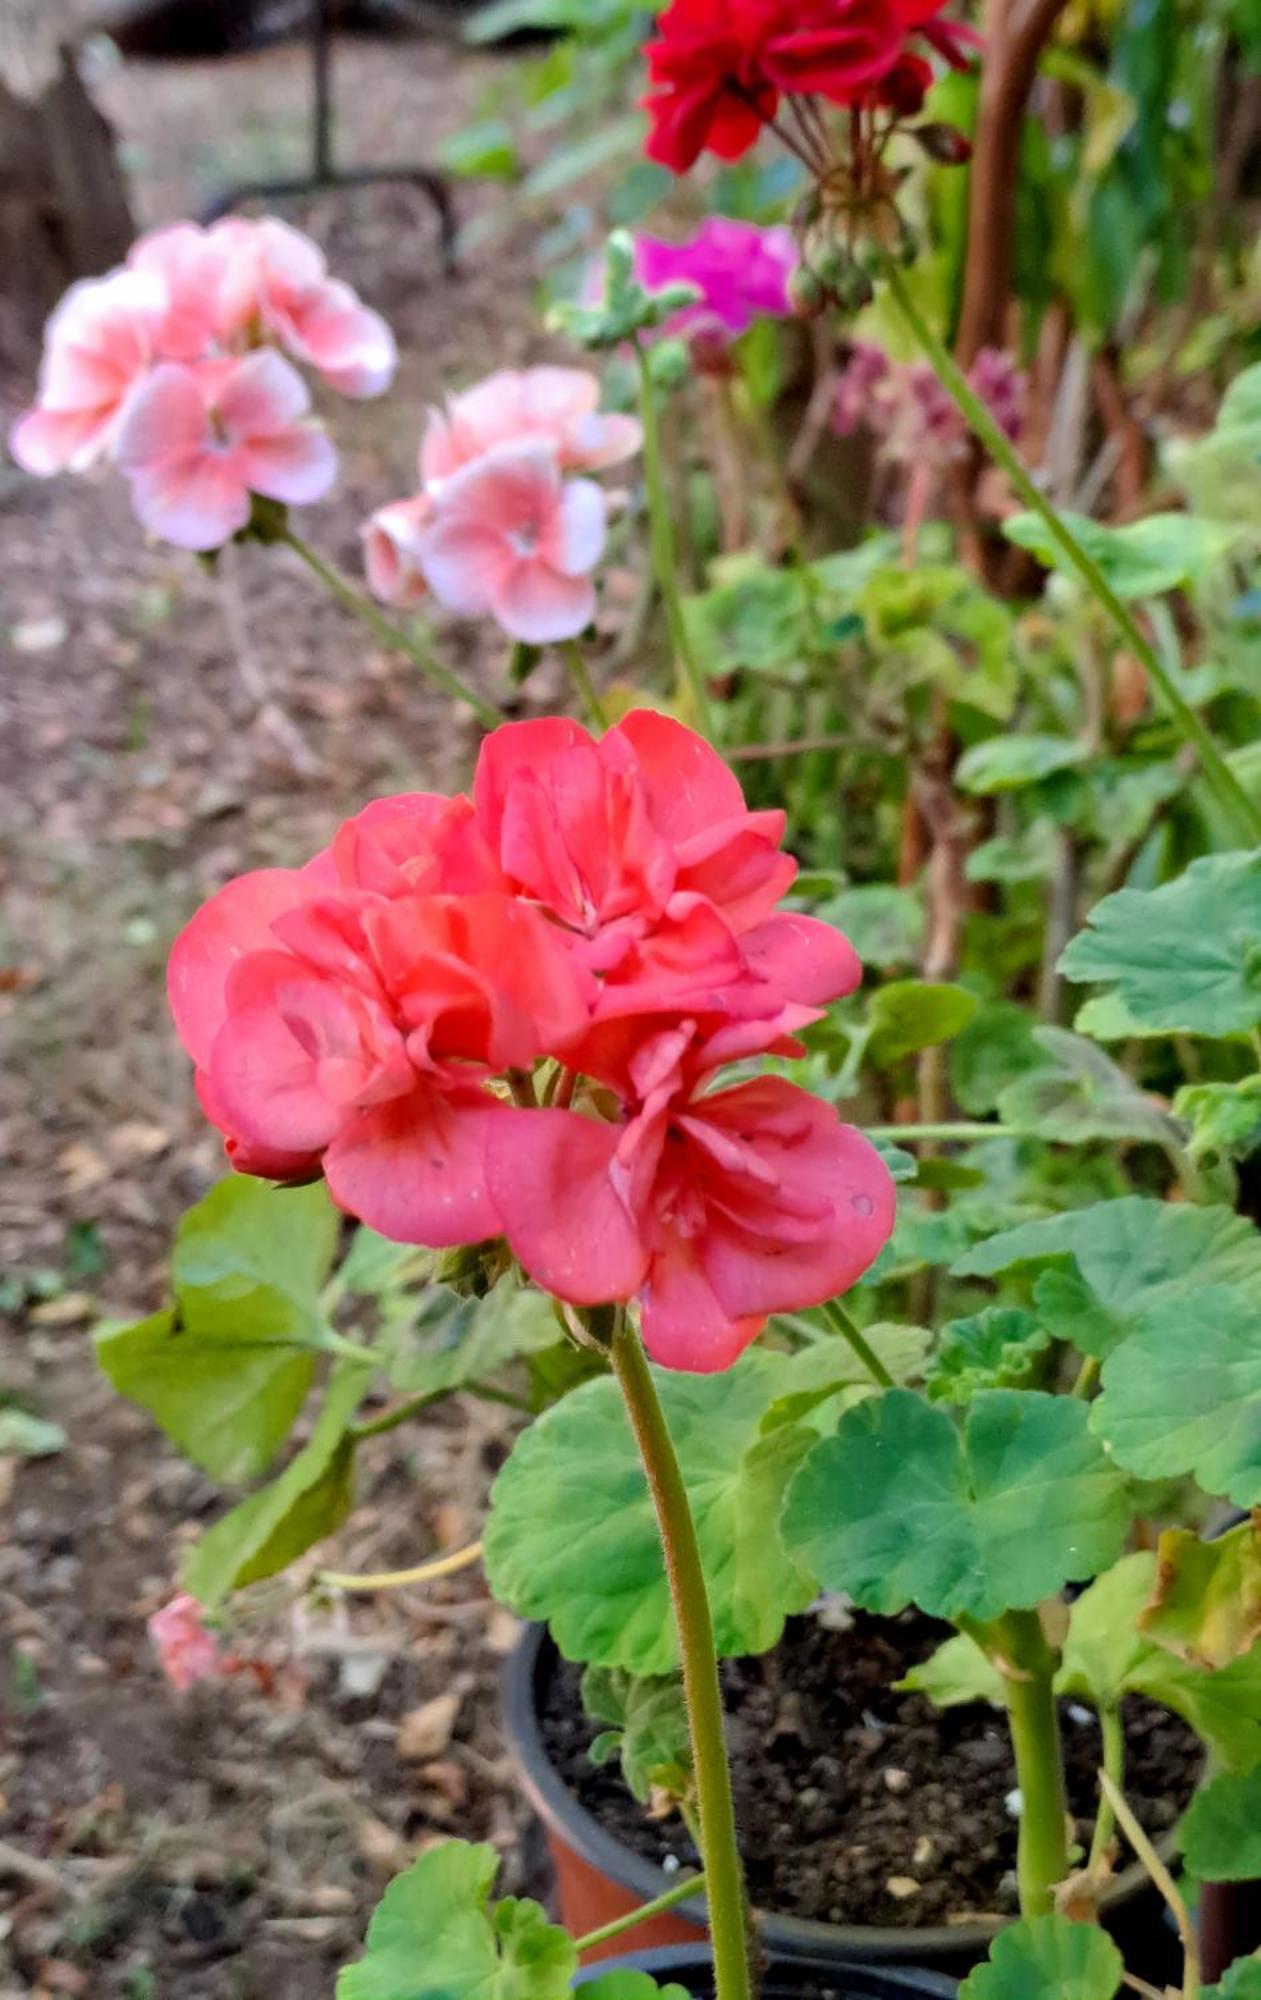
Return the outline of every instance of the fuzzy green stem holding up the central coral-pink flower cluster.
[[[661,1546],[671,1578],[671,1598],[679,1622],[683,1692],[697,1766],[697,1810],[701,1818],[701,1862],[709,1902],[709,1930],[715,1948],[717,2000],[751,2000],[745,1874],[737,1846],[727,1738],[723,1734],[723,1690],[709,1592],[701,1568],[701,1548],[693,1508],[679,1470],[653,1370],[641,1338],[624,1310],[612,1332],[612,1372],[626,1402],[630,1428],[649,1474]]]

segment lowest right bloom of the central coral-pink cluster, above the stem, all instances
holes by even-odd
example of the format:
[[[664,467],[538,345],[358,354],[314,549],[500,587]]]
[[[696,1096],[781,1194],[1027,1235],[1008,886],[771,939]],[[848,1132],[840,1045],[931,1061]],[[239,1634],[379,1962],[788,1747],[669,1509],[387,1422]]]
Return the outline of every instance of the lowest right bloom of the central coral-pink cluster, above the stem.
[[[488,1134],[488,1184],[530,1276],[574,1306],[639,1298],[667,1368],[727,1368],[769,1314],[817,1306],[879,1256],[885,1162],[779,1076],[709,1096],[687,1026],[645,1042],[622,1126],[516,1112]]]

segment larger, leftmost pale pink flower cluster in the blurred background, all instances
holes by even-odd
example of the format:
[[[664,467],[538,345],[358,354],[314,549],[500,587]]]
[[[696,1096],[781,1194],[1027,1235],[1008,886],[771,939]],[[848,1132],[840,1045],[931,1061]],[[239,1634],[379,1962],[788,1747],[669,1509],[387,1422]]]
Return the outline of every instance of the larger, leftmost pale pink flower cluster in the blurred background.
[[[220,548],[252,494],[300,506],[332,484],[294,362],[344,396],[376,396],[394,336],[286,222],[176,222],[60,302],[10,450],[40,478],[110,458],[152,534]]]

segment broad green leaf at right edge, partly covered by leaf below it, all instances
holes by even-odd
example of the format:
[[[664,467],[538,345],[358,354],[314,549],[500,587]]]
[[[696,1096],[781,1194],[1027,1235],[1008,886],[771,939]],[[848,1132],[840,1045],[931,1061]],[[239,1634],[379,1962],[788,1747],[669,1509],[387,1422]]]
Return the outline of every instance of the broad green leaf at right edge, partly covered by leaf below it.
[[[1261,1236],[1229,1208],[1191,1208],[1127,1194],[975,1244],[959,1278],[995,1278],[1017,1266],[1061,1262],[1033,1294],[1057,1340],[1103,1358],[1153,1306],[1205,1284],[1233,1284],[1261,1304]]]

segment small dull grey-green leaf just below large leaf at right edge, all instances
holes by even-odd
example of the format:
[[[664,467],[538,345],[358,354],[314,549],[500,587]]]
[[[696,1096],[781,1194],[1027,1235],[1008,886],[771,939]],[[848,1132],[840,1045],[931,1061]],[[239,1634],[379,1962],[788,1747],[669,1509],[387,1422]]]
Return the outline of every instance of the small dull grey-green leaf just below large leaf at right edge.
[[[1067,1028],[1035,1028],[1043,1066],[1019,1076],[999,1096],[999,1118],[1035,1138],[1139,1138],[1181,1142],[1181,1130],[1111,1056]]]

